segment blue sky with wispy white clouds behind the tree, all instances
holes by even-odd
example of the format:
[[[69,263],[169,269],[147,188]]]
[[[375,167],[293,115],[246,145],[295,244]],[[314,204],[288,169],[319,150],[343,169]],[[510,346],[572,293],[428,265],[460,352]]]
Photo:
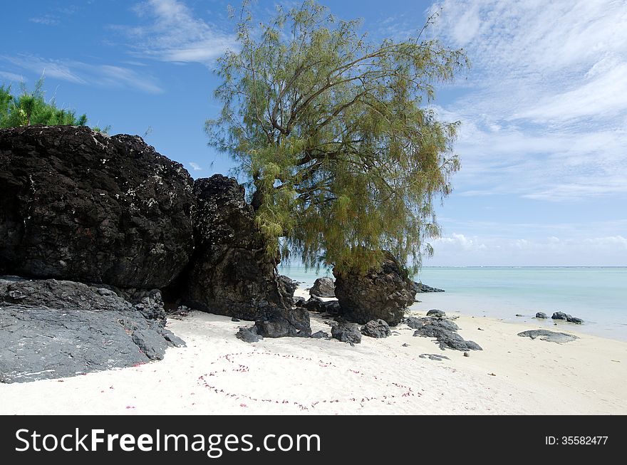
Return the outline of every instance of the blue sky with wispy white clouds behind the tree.
[[[363,18],[373,40],[403,38],[437,9],[430,35],[472,62],[435,101],[462,121],[462,169],[425,265],[627,266],[625,0],[322,3]],[[148,132],[193,177],[227,173],[203,132],[219,110],[214,60],[235,46],[227,4],[6,1],[0,83],[33,85],[45,70],[46,97],[90,124]]]

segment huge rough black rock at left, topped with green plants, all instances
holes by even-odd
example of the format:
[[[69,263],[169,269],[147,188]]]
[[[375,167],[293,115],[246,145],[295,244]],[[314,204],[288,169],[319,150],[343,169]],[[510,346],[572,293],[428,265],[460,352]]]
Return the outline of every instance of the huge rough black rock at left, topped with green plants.
[[[0,274],[163,288],[194,249],[192,178],[137,136],[0,129]]]

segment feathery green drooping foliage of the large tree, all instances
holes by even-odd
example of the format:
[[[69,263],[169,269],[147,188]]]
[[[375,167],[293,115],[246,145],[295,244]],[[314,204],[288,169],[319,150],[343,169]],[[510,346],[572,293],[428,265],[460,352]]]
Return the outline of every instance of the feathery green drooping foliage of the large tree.
[[[256,28],[245,1],[239,51],[218,63],[209,144],[254,186],[269,253],[281,244],[306,266],[365,271],[388,250],[418,269],[440,234],[433,202],[459,169],[459,123],[427,105],[468,63],[421,33],[371,43],[359,27],[308,0]]]

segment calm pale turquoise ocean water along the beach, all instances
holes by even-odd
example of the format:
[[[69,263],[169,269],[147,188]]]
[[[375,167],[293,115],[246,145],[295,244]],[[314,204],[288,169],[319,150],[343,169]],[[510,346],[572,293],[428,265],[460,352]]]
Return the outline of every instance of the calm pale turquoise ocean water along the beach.
[[[304,281],[306,287],[318,276],[333,276],[301,266],[279,271]],[[416,310],[440,308],[627,340],[627,268],[425,267],[415,281],[446,291],[418,294],[421,302],[412,307]],[[550,316],[556,311],[583,318],[585,323],[554,326]],[[546,313],[549,320],[532,318],[536,312]],[[517,313],[524,317],[516,317]]]

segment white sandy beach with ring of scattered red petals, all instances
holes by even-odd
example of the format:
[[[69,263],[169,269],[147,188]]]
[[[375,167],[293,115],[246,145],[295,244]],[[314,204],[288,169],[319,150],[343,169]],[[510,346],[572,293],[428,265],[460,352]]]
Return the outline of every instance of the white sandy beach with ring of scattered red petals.
[[[489,318],[455,323],[484,350],[442,351],[406,325],[355,347],[299,338],[247,344],[234,337],[246,322],[192,312],[168,321],[187,348],[167,350],[165,360],[0,385],[0,414],[627,414],[627,343],[564,325],[579,339],[521,338],[540,326]],[[330,332],[313,313],[311,326]]]

